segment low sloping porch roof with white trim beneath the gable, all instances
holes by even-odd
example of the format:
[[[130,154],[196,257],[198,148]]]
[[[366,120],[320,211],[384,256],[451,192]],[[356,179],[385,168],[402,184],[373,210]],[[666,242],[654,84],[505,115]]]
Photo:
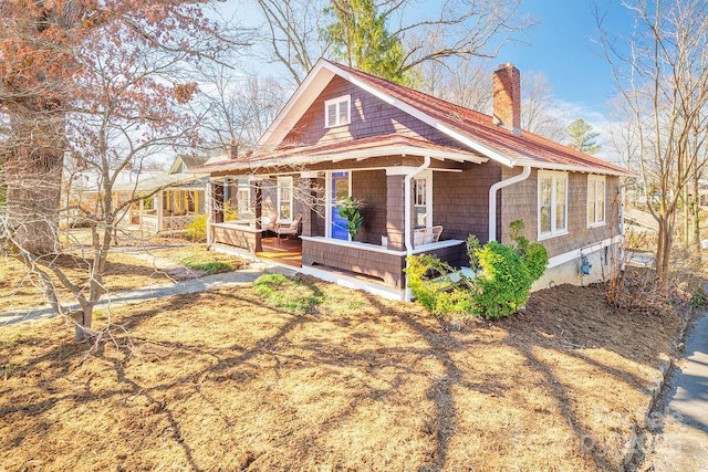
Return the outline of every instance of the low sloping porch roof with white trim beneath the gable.
[[[230,170],[244,170],[272,167],[293,167],[342,160],[365,160],[387,156],[429,156],[437,160],[456,162],[483,164],[489,160],[478,154],[464,149],[441,146],[436,143],[399,135],[376,136],[372,138],[351,139],[342,143],[329,143],[313,146],[301,146],[278,149],[248,158],[216,162],[201,169],[214,174]]]

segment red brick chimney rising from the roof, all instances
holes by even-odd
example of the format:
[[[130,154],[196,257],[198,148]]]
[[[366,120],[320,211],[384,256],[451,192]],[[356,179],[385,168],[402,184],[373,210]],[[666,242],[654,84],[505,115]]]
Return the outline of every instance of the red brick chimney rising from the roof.
[[[521,136],[521,73],[511,63],[492,74],[492,123]]]

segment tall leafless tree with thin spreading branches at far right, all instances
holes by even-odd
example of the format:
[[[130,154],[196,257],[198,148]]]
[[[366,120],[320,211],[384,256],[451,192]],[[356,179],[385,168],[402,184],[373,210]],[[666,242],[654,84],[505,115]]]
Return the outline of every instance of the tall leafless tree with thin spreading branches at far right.
[[[635,0],[635,34],[611,38],[596,15],[634,132],[636,164],[647,210],[658,223],[656,270],[666,286],[677,209],[694,175],[706,165],[708,11],[705,0]]]

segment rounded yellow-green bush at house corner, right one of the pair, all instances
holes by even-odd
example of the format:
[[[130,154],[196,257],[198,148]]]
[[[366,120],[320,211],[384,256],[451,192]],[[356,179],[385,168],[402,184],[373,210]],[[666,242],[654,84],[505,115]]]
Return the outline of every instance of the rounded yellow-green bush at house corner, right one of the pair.
[[[533,279],[521,256],[510,247],[490,241],[477,252],[482,274],[472,294],[473,311],[487,318],[516,313],[529,300]]]

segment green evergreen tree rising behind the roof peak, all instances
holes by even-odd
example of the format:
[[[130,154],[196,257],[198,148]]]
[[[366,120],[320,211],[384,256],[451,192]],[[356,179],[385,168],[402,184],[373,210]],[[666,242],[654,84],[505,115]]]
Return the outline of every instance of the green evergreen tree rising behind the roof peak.
[[[326,12],[334,17],[323,31],[334,56],[347,65],[392,82],[403,83],[404,49],[386,29],[386,15],[373,0],[333,0]]]

